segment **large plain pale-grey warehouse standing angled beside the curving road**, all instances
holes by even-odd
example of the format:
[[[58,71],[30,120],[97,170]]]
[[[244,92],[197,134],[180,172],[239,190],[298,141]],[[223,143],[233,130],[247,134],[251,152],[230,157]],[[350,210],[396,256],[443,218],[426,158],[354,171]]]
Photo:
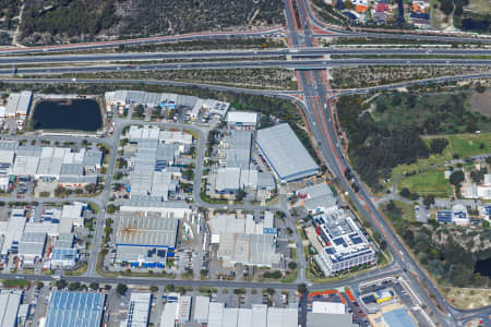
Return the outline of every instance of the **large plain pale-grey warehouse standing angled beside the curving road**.
[[[255,144],[282,182],[299,180],[319,172],[319,166],[286,123],[259,130]]]

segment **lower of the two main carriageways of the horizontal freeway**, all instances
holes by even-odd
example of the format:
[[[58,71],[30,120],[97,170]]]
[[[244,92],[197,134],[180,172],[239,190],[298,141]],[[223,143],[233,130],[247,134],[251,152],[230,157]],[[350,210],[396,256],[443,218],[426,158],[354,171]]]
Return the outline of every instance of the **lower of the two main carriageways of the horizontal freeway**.
[[[296,70],[325,70],[328,66],[357,65],[490,65],[491,60],[481,59],[335,59],[335,60],[258,60],[238,62],[183,62],[139,65],[87,65],[87,66],[49,66],[22,68],[17,74],[70,74],[93,72],[131,72],[148,70],[204,70],[204,69],[247,69],[247,68],[283,68]],[[11,75],[12,70],[1,69],[0,75]]]

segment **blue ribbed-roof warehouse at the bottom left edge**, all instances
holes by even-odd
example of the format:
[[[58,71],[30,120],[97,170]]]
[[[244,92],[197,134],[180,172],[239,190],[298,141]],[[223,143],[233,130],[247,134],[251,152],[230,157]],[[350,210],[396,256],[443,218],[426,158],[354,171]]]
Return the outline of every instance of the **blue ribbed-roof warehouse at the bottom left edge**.
[[[55,291],[45,327],[100,327],[105,303],[104,293]]]

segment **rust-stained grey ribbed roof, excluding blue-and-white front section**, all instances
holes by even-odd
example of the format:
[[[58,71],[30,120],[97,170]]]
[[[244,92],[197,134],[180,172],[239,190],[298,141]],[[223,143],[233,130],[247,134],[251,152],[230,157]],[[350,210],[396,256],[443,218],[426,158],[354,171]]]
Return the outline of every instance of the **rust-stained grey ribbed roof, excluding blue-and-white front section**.
[[[177,218],[123,216],[120,217],[116,244],[175,246]]]

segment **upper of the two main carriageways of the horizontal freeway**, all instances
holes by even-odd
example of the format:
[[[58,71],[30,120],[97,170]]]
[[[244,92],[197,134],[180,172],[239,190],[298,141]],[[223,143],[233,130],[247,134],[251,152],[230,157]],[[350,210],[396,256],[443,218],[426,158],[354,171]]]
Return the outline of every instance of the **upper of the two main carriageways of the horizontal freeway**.
[[[96,62],[96,61],[143,61],[143,60],[170,60],[170,59],[203,59],[203,58],[261,58],[261,57],[321,57],[331,55],[421,55],[421,56],[491,56],[490,49],[427,49],[427,48],[384,48],[383,53],[376,48],[297,48],[297,49],[266,49],[266,50],[212,50],[190,52],[127,52],[127,53],[94,53],[94,55],[67,55],[67,56],[17,56],[0,57],[0,64],[25,64],[48,62]]]

